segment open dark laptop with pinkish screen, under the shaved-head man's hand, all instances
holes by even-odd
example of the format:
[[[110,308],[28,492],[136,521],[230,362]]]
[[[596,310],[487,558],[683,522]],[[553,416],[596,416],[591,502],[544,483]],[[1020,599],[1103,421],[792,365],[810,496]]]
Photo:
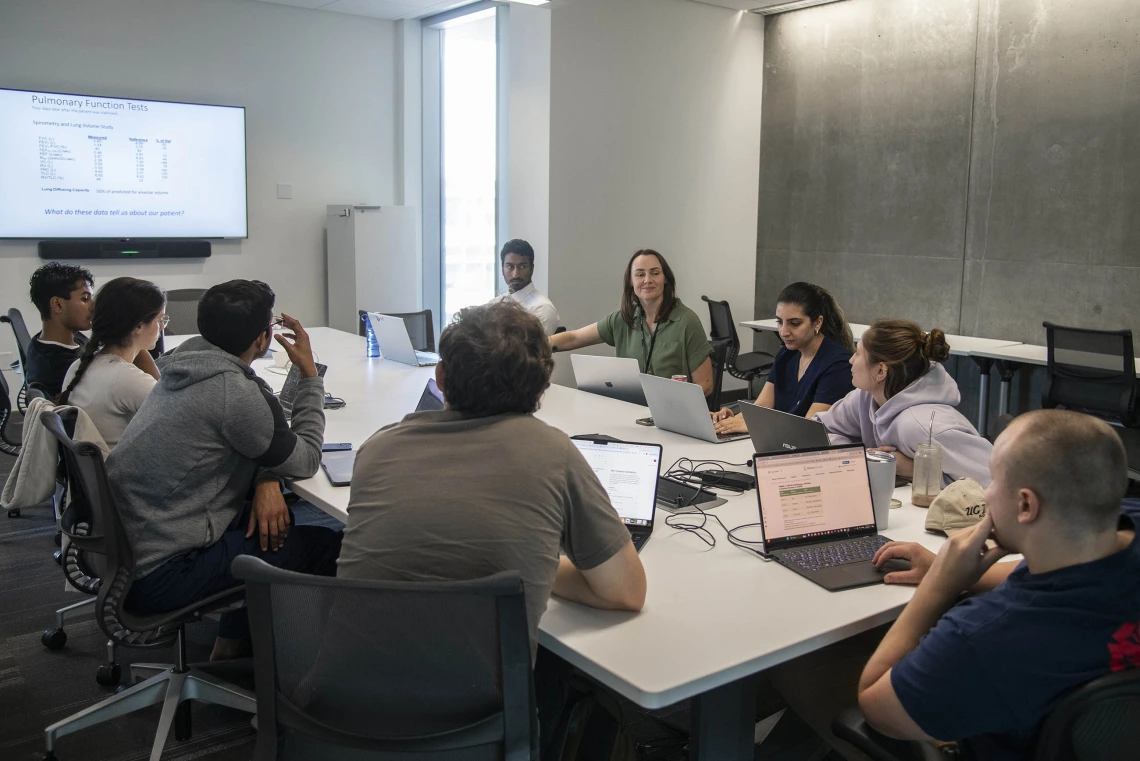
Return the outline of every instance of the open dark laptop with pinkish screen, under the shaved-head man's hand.
[[[909,567],[871,563],[890,540],[876,527],[862,444],[758,453],[754,467],[764,549],[781,565],[831,590]]]

